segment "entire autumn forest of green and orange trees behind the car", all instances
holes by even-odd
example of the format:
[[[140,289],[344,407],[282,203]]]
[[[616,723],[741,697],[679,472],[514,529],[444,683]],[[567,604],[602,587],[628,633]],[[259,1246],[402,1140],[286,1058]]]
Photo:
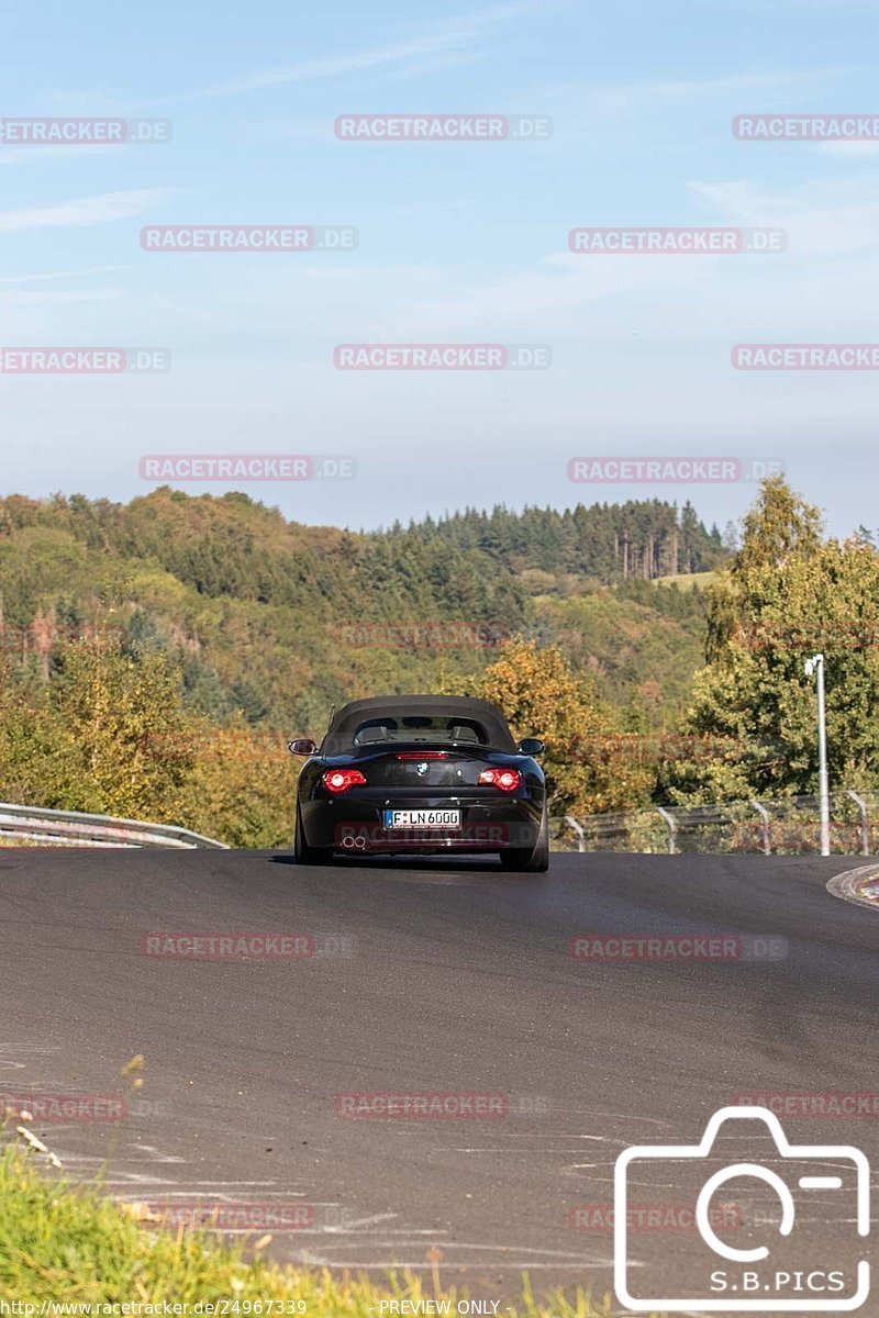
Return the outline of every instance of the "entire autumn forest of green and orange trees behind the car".
[[[0,501],[0,797],[283,845],[333,705],[482,695],[546,737],[555,813],[874,787],[879,555],[780,477],[741,527],[658,500],[358,532],[244,494]]]

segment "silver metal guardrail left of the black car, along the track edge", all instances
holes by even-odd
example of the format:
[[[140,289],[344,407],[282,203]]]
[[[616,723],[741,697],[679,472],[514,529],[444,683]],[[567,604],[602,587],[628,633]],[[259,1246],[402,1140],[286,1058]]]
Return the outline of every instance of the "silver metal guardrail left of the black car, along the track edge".
[[[203,847],[228,851],[225,842],[173,824],[145,824],[112,815],[79,815],[76,811],[45,811],[5,801],[0,801],[0,837],[53,846],[175,846],[187,851]]]

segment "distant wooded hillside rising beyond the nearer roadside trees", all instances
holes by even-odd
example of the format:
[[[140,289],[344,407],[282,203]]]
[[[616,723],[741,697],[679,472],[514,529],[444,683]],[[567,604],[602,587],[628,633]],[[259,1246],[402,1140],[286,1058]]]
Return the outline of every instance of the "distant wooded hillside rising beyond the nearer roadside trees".
[[[287,522],[244,494],[11,496],[0,643],[47,680],[53,638],[109,619],[129,647],[171,652],[210,718],[241,710],[304,733],[333,702],[453,688],[505,638],[538,637],[605,699],[660,720],[701,663],[702,597],[648,579],[708,572],[723,556],[689,505],[655,500],[468,510],[356,534]]]

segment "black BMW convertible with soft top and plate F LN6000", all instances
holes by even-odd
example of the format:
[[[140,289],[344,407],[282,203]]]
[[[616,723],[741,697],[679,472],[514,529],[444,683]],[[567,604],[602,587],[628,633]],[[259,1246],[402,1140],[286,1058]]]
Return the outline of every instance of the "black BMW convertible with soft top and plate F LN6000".
[[[297,791],[297,861],[336,853],[497,851],[507,870],[550,865],[543,742],[517,743],[499,709],[465,696],[376,696],[336,713]]]

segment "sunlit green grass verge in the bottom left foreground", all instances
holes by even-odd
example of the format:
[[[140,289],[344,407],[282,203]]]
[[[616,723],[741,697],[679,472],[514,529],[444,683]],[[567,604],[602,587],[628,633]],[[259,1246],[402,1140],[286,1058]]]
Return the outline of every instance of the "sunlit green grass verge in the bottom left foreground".
[[[256,1239],[257,1232],[248,1259],[241,1248],[202,1231],[148,1228],[137,1220],[137,1206],[124,1211],[103,1198],[99,1186],[74,1186],[43,1174],[34,1155],[9,1144],[9,1131],[5,1135],[8,1147],[0,1153],[0,1296],[5,1300],[141,1306],[167,1301],[188,1304],[190,1315],[198,1301],[237,1300],[239,1313],[254,1313],[245,1302],[262,1301],[262,1314],[377,1318],[382,1300],[448,1298],[455,1313],[456,1301],[467,1296],[443,1286],[439,1251],[427,1282],[406,1272],[374,1282],[326,1269],[277,1267],[262,1253],[270,1238]],[[277,1302],[271,1309],[269,1300]],[[573,1298],[553,1293],[539,1304],[523,1278],[517,1306],[502,1305],[498,1311],[513,1318],[610,1318],[610,1304],[605,1300],[596,1307],[584,1292]],[[92,1314],[96,1318],[99,1310]]]

